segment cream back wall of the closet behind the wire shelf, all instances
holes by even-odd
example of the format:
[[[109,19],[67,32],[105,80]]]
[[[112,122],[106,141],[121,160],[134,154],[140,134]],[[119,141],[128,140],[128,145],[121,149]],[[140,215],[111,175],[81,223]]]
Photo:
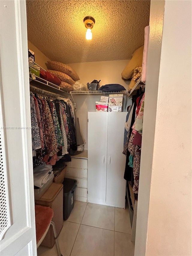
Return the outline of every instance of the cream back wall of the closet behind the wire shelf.
[[[119,83],[128,89],[130,81],[124,81],[121,78],[121,72],[128,64],[129,60],[114,60],[114,61],[98,61],[98,62],[82,62],[69,64],[79,75],[79,82],[83,84],[90,83],[94,79],[100,80],[100,86],[110,83]],[[84,149],[87,149],[87,119],[88,111],[95,111],[95,101],[100,101],[101,95],[73,95],[77,105],[76,116],[79,117],[80,128],[82,135],[86,141]],[[108,95],[109,96],[109,95]],[[131,105],[131,99],[124,95],[123,111],[127,111],[126,106]]]

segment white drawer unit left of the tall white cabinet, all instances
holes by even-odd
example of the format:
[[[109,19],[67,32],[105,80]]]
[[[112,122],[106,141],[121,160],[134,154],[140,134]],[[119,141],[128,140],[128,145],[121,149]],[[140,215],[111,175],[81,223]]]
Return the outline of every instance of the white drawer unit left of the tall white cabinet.
[[[65,177],[77,180],[75,200],[87,202],[87,150],[71,156],[71,162],[67,162]]]

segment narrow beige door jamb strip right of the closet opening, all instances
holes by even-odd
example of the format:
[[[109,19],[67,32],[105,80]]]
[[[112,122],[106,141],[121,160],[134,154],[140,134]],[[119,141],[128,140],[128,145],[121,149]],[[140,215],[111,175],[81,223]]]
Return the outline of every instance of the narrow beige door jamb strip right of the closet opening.
[[[135,255],[145,255],[155,136],[164,1],[151,1]],[[141,192],[140,192],[141,191]]]

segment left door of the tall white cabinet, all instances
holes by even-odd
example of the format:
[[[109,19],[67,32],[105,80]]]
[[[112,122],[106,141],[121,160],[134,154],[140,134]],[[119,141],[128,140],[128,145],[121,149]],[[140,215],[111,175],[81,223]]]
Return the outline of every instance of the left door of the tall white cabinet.
[[[107,112],[88,112],[88,202],[106,201]]]

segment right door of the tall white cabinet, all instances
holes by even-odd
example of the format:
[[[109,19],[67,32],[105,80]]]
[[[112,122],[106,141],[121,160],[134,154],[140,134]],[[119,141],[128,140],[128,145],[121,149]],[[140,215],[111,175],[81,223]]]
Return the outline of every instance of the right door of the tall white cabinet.
[[[123,152],[126,112],[108,113],[106,204],[124,208],[126,157]]]

